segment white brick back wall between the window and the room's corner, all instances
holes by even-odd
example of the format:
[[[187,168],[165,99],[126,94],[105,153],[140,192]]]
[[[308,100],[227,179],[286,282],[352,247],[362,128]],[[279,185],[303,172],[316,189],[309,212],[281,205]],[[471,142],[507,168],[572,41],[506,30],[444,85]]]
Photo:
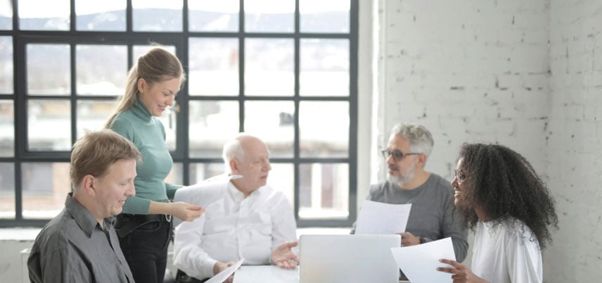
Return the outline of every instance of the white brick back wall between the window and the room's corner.
[[[463,142],[512,146],[544,170],[549,7],[523,2],[380,2],[379,118],[385,131],[411,121],[433,132],[429,170],[449,177]]]

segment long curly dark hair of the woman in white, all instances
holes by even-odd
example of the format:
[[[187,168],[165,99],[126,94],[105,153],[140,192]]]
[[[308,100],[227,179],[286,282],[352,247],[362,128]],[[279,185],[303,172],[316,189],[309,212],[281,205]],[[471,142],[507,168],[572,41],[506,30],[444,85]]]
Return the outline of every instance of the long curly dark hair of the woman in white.
[[[555,201],[529,161],[499,144],[463,144],[459,158],[466,179],[458,207],[464,225],[475,229],[475,204],[493,225],[515,218],[527,225],[544,249],[551,244],[549,226],[558,229]],[[524,232],[524,227],[522,227]]]

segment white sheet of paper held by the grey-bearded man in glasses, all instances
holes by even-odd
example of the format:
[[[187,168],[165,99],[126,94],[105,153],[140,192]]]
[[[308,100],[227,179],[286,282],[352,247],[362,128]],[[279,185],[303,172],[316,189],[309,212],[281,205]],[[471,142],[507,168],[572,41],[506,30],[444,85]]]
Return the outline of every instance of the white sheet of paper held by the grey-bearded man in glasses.
[[[355,234],[397,234],[406,232],[411,203],[391,204],[366,200],[361,204]]]

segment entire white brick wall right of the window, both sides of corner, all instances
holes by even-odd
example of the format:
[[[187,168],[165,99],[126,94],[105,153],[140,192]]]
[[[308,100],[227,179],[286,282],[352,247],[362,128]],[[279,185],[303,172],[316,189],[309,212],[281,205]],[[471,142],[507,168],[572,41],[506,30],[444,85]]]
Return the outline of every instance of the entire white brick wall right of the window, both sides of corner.
[[[379,0],[378,9],[377,146],[397,122],[421,123],[435,137],[427,169],[448,179],[463,142],[523,153],[560,218],[545,282],[599,282],[602,1]],[[373,164],[382,178],[383,163]]]

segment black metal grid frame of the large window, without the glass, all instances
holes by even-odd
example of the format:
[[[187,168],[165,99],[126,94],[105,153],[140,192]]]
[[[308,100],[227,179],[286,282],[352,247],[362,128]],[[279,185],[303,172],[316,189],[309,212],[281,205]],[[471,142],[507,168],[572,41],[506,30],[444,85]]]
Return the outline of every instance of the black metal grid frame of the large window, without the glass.
[[[292,163],[294,168],[294,209],[297,218],[297,227],[350,227],[357,216],[357,65],[358,65],[358,6],[359,0],[350,0],[350,27],[349,33],[307,33],[300,32],[299,1],[295,0],[295,30],[294,32],[245,32],[243,7],[244,0],[239,0],[240,10],[238,13],[237,32],[189,32],[188,31],[188,0],[184,0],[182,8],[182,32],[134,32],[132,30],[132,0],[127,0],[126,8],[126,30],[120,32],[82,32],[76,30],[75,0],[70,0],[70,30],[68,31],[37,31],[19,30],[18,0],[12,0],[13,4],[13,29],[0,30],[0,36],[11,36],[13,39],[13,94],[0,94],[1,100],[13,100],[15,121],[15,145],[14,156],[0,158],[2,163],[13,163],[15,166],[15,218],[0,219],[0,227],[34,226],[41,227],[47,220],[34,220],[23,218],[23,194],[22,194],[22,163],[28,162],[69,162],[70,151],[27,151],[27,100],[31,98],[60,99],[70,101],[71,111],[71,137],[72,143],[77,137],[77,101],[106,100],[115,101],[116,96],[94,96],[77,94],[76,82],[76,56],[75,46],[78,44],[94,45],[123,45],[127,46],[128,68],[133,64],[133,46],[147,45],[149,41],[176,47],[176,55],[182,61],[184,70],[188,73],[188,39],[202,37],[224,37],[237,38],[239,47],[239,89],[238,96],[190,96],[188,94],[188,81],[184,84],[177,96],[179,113],[177,113],[176,150],[171,151],[174,163],[182,164],[182,180],[188,184],[190,180],[189,169],[191,163],[222,163],[220,158],[191,158],[188,149],[188,102],[189,101],[236,101],[239,106],[239,131],[244,130],[245,101],[293,101],[295,105],[295,140],[292,158],[271,158],[272,163]],[[293,39],[295,45],[295,90],[293,96],[245,96],[244,95],[244,60],[245,39],[247,38],[286,38]],[[350,46],[350,89],[349,96],[300,96],[300,41],[301,39],[348,39]],[[70,48],[70,71],[71,71],[71,93],[68,96],[27,96],[27,44],[69,44]],[[299,105],[301,101],[347,101],[349,103],[350,129],[349,129],[349,152],[347,158],[302,158],[300,157],[300,129],[299,129]],[[339,219],[300,219],[299,218],[299,195],[300,195],[300,170],[301,164],[306,163],[347,163],[349,165],[349,215],[345,220]]]

